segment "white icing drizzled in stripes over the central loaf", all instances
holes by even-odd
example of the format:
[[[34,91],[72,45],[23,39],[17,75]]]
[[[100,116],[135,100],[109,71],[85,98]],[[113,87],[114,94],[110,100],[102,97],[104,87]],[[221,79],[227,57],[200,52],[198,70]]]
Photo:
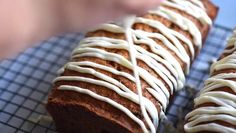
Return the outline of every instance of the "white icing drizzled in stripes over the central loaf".
[[[195,18],[199,19],[201,22],[211,24],[205,16],[206,13],[201,1],[191,0],[192,3],[186,2],[185,0],[181,1],[182,2],[176,2],[175,0],[171,0],[168,1],[167,4],[171,3],[171,5],[174,5],[173,7],[177,9],[181,7],[181,10],[187,13],[194,11],[194,13],[197,13],[193,15]],[[182,9],[183,6],[186,6],[187,9]],[[190,8],[192,9],[190,10]],[[92,75],[96,79],[80,76],[60,76],[55,79],[55,82],[85,82],[102,86],[104,89],[114,91],[114,93],[117,93],[119,96],[127,98],[128,100],[139,105],[145,122],[135,116],[131,110],[124,107],[122,104],[117,103],[108,97],[90,91],[89,89],[72,85],[61,85],[58,87],[60,90],[76,91],[89,95],[97,100],[106,102],[121,110],[128,117],[134,120],[142,128],[143,132],[156,133],[159,119],[165,117],[164,112],[169,103],[170,96],[176,90],[181,89],[184,85],[185,74],[189,72],[190,61],[193,60],[195,56],[193,45],[201,48],[202,37],[200,31],[197,29],[197,26],[190,19],[171,11],[170,9],[161,7],[157,10],[150,11],[150,13],[167,18],[171,22],[178,25],[181,29],[188,31],[193,37],[194,44],[187,37],[175,30],[167,28],[164,24],[142,17],[128,18],[125,22],[121,23],[120,26],[116,24],[102,24],[96,27],[95,30],[125,34],[126,40],[108,37],[87,37],[83,39],[79,46],[73,51],[72,61],[67,63],[64,68],[59,71],[60,74],[62,74],[65,70],[76,71],[79,73]],[[160,31],[160,33],[151,33],[132,29],[131,27],[135,23],[149,25]],[[158,44],[154,39],[159,40],[163,43],[163,45]],[[188,55],[180,41],[184,42],[188,46],[191,55]],[[147,51],[141,47],[141,45],[146,45],[150,48],[150,51]],[[103,50],[101,47],[108,50]],[[120,54],[109,52],[110,49],[128,51],[130,60]],[[175,56],[185,63],[185,69],[181,67],[180,62],[177,58],[175,58]],[[118,71],[110,66],[92,61],[75,62],[73,60],[81,57],[95,57],[102,60],[115,62],[127,69],[130,69],[134,75],[127,72]],[[158,79],[144,68],[138,66],[137,60],[145,63],[162,80]],[[135,83],[137,92],[133,92],[119,80],[111,78],[102,72],[96,71],[96,69],[124,77],[130,82]],[[140,78],[142,78],[150,87],[142,88]],[[144,97],[142,94],[143,89],[146,89],[147,92],[149,92],[160,103],[160,105],[154,105],[150,99]],[[161,108],[161,112],[158,112],[156,106]]]

